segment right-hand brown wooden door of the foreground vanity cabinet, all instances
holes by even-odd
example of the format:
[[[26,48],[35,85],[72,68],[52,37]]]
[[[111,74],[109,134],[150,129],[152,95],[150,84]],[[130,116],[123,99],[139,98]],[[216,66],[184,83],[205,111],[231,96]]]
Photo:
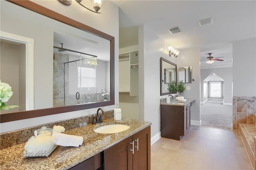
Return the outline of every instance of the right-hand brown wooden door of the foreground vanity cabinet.
[[[150,170],[150,126],[132,136],[133,170]]]

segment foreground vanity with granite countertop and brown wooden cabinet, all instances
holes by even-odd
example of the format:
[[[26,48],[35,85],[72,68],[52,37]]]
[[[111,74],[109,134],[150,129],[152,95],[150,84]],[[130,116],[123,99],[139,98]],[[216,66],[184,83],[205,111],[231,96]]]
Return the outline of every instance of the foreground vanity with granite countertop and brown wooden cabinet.
[[[93,130],[109,124],[124,124],[128,130],[100,134]],[[82,146],[58,146],[48,157],[23,158],[25,143],[0,150],[1,170],[113,170],[150,169],[151,122],[122,118],[106,119],[103,123],[88,124],[65,131],[65,134],[82,136]]]

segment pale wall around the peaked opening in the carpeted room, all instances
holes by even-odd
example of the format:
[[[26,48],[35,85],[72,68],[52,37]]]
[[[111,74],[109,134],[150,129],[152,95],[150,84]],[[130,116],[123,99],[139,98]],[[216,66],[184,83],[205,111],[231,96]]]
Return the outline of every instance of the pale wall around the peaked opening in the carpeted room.
[[[201,102],[204,102],[204,79],[215,73],[224,81],[224,104],[232,104],[232,67],[201,69]]]

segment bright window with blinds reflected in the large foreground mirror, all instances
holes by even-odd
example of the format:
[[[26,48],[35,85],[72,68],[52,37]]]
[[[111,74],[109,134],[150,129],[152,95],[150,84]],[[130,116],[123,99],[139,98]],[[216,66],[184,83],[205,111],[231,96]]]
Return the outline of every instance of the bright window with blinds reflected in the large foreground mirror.
[[[78,67],[78,87],[96,87],[96,68]]]

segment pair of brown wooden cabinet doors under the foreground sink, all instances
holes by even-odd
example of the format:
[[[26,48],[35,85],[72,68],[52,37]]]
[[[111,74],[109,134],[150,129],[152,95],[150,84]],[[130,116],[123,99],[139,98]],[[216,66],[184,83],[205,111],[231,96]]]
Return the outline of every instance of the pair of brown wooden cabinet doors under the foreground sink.
[[[104,170],[150,170],[150,126],[106,149]]]

